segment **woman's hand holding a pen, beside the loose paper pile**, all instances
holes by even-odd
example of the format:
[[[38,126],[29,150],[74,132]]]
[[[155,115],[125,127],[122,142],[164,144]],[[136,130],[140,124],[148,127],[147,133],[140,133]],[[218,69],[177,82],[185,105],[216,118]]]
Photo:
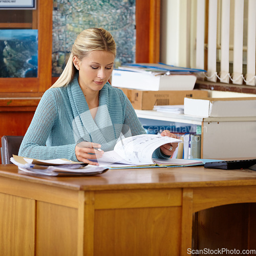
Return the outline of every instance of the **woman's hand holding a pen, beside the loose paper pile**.
[[[89,159],[97,159],[102,157],[103,151],[97,150],[101,145],[98,143],[82,141],[75,147],[75,154],[78,161],[83,163],[89,163],[92,165],[98,165],[97,162],[90,161]]]

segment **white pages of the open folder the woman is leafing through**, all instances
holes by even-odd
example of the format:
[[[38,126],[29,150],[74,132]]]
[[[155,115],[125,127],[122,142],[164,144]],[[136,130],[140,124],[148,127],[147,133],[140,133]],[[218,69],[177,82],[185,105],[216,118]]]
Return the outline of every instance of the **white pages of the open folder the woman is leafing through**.
[[[156,134],[141,134],[120,138],[113,151],[104,152],[97,159],[99,166],[109,168],[154,167],[173,165],[202,164],[200,160],[192,159],[156,159],[152,158],[154,151],[164,144],[183,143],[182,140]],[[90,159],[95,161],[94,159]]]

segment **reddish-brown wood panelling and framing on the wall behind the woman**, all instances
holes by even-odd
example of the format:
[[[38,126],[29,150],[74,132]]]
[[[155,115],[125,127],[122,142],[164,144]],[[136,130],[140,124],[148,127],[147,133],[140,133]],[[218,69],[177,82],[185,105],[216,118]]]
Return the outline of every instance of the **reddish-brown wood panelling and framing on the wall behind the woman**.
[[[136,1],[136,62],[158,62],[160,0]],[[1,28],[38,29],[38,77],[0,78],[0,138],[25,135],[42,94],[52,77],[52,0],[37,0],[37,9],[24,18],[18,11],[0,11]],[[25,15],[26,16],[26,15]],[[8,20],[8,22],[6,22]],[[1,146],[1,142],[0,142]]]

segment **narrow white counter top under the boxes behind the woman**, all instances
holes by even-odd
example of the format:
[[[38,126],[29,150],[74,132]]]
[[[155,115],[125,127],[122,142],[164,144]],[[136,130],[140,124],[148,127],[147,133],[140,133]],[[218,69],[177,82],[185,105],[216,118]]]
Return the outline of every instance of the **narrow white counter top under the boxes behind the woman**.
[[[256,116],[253,117],[198,117],[188,116],[184,114],[172,114],[159,112],[154,110],[135,110],[139,118],[161,120],[168,122],[179,122],[187,124],[202,125],[202,122],[236,122],[236,121],[256,121]]]

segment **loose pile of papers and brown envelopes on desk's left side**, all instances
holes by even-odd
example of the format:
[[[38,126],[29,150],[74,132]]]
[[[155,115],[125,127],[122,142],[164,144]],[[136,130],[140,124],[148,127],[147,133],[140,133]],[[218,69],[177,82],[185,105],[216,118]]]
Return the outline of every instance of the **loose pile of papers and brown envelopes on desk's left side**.
[[[22,174],[88,176],[102,174],[108,170],[108,168],[105,167],[82,162],[73,162],[67,159],[37,160],[13,155],[10,160],[18,166]]]

